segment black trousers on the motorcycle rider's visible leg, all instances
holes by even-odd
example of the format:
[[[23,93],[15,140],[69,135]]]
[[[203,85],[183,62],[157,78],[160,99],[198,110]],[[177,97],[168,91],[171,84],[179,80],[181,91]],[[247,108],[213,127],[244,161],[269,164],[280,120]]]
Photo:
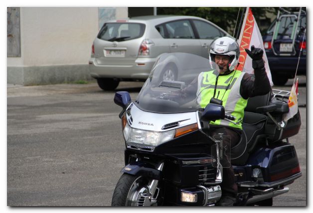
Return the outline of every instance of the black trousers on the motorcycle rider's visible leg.
[[[238,131],[227,127],[211,128],[211,137],[217,139],[220,135],[223,136],[223,146],[226,150],[226,152],[224,152],[223,160],[221,160],[223,166],[223,182],[221,184],[222,196],[231,196],[235,198],[238,192],[238,187],[235,183],[235,174],[233,167],[231,166],[230,147],[235,146],[239,142],[241,135]],[[230,161],[230,164],[228,160]]]

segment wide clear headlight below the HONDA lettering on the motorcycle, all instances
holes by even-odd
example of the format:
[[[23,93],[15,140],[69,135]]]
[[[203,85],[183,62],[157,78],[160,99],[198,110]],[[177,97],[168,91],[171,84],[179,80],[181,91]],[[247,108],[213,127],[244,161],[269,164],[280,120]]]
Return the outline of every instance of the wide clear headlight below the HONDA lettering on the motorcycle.
[[[160,145],[174,137],[175,130],[164,132],[147,131],[134,129],[127,123],[123,130],[124,138],[127,142],[145,144],[150,146]]]

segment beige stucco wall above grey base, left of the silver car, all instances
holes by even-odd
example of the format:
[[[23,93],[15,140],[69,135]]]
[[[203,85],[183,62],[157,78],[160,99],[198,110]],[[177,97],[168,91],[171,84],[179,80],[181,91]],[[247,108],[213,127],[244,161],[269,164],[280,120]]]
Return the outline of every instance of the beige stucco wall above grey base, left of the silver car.
[[[127,16],[127,7],[116,9]],[[21,57],[7,66],[88,64],[98,24],[98,7],[20,7]]]

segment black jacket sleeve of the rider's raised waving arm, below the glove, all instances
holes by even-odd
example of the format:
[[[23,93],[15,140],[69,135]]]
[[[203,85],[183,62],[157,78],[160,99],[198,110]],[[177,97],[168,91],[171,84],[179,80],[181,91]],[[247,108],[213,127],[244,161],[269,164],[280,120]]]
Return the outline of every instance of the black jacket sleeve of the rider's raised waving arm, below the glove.
[[[267,77],[263,59],[252,61],[254,75],[245,73],[240,84],[240,95],[244,99],[269,93],[272,88]]]

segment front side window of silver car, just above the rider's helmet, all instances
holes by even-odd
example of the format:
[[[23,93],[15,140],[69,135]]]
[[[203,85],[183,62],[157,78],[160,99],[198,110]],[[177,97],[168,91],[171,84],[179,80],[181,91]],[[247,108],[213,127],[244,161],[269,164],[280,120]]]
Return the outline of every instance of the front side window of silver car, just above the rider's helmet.
[[[215,39],[217,37],[225,36],[225,33],[221,32],[219,29],[209,23],[199,20],[192,21],[199,33],[199,37],[202,39]]]

